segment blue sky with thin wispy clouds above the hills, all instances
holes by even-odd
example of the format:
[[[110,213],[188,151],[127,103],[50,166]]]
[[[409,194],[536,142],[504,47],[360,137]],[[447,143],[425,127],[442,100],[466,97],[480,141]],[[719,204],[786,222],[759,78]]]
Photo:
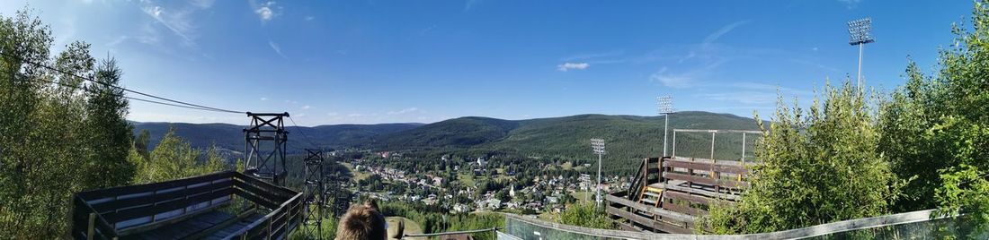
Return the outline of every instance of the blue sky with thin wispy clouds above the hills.
[[[0,2],[11,16],[27,1]],[[928,71],[969,1],[30,1],[55,48],[93,44],[127,88],[288,111],[300,125],[677,110],[751,117],[854,78],[848,21],[873,19],[866,85]],[[135,121],[246,116],[132,102]]]

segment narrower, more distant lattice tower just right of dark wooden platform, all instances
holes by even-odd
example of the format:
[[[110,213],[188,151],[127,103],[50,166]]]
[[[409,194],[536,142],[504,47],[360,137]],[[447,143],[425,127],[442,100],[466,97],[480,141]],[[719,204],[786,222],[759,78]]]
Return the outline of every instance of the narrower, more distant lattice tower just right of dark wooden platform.
[[[303,196],[306,199],[306,219],[303,221],[311,227],[305,227],[306,234],[316,239],[322,237],[323,205],[326,201],[323,186],[322,150],[306,150],[306,189]]]

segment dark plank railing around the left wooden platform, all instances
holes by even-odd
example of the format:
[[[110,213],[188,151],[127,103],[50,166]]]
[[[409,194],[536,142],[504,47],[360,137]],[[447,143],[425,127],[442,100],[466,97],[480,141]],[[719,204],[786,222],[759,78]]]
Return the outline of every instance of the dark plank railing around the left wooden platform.
[[[77,239],[116,239],[215,210],[234,196],[273,210],[262,220],[277,224],[275,228],[268,226],[265,233],[286,233],[301,220],[302,193],[224,171],[77,193],[73,198],[71,234]]]

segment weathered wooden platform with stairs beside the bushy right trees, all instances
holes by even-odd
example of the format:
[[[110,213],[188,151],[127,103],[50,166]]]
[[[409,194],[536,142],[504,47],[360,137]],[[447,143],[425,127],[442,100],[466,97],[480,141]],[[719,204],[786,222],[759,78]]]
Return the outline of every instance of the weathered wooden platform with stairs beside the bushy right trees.
[[[627,191],[605,197],[605,210],[624,229],[691,233],[696,217],[706,215],[709,206],[741,199],[742,189],[749,186],[745,178],[755,165],[703,158],[647,158]]]

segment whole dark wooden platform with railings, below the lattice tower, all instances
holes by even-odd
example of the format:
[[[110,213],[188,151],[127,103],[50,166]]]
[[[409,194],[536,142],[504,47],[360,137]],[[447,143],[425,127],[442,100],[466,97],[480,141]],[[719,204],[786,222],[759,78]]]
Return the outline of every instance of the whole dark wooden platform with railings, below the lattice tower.
[[[302,196],[233,171],[93,190],[75,194],[70,233],[75,239],[281,239],[302,221]]]

